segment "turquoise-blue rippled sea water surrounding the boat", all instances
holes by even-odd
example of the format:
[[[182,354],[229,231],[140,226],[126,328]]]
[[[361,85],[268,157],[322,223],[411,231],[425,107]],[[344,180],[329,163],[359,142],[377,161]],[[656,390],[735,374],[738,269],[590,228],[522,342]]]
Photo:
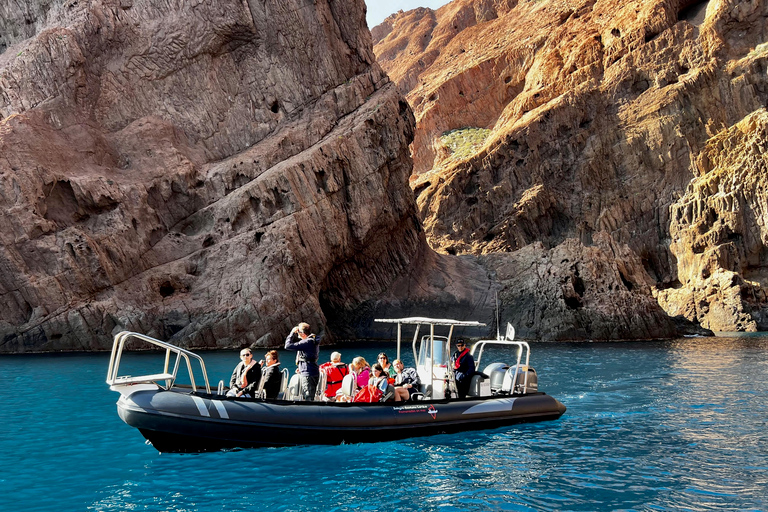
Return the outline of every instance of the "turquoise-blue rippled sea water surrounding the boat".
[[[118,418],[108,354],[0,357],[0,510],[768,510],[768,338],[532,349],[558,421],[195,455]],[[203,357],[213,383],[237,363]]]

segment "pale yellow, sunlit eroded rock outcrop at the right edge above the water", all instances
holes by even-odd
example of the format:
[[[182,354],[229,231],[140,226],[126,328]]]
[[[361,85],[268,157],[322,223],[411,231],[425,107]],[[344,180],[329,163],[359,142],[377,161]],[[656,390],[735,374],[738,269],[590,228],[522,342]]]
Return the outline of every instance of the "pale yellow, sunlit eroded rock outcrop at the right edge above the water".
[[[672,205],[671,250],[680,282],[665,309],[715,331],[768,330],[768,113],[761,109],[708,141],[699,175]]]

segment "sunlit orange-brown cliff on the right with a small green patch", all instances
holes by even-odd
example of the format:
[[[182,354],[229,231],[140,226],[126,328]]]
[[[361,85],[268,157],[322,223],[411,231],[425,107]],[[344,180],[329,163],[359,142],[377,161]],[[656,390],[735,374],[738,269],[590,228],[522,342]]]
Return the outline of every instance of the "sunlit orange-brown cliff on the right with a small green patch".
[[[516,323],[768,329],[767,2],[454,0],[372,33],[427,238],[480,256]]]

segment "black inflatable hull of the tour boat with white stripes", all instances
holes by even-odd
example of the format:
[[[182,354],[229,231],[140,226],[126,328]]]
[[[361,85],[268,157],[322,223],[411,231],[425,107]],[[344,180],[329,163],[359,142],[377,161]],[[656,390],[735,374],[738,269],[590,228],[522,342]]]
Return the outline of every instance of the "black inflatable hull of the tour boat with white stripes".
[[[565,406],[519,397],[346,404],[221,399],[142,390],[121,396],[120,418],[161,452],[390,441],[554,420]]]

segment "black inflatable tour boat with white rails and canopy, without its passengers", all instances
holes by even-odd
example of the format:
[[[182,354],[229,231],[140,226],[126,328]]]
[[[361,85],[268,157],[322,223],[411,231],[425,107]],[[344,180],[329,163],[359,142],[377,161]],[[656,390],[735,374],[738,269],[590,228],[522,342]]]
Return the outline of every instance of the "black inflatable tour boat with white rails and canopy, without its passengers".
[[[481,327],[472,321],[409,317],[379,319],[397,325],[397,357],[402,329],[415,326],[412,350],[421,389],[413,401],[377,403],[325,401],[322,378],[315,401],[298,400],[298,383],[283,381],[277,399],[227,397],[224,383],[211,389],[201,356],[149,336],[123,331],[114,338],[107,372],[110,389],[120,393],[117,412],[160,452],[204,452],[261,446],[344,444],[490,429],[522,422],[555,420],[565,406],[538,390],[529,365],[530,346],[516,341],[514,329],[496,339],[480,340],[471,353],[477,368],[483,355],[505,352],[512,364],[494,362],[472,377],[469,394],[458,398],[450,348],[454,329]],[[420,336],[420,330],[426,333]],[[448,328],[447,336],[435,334]],[[511,334],[510,334],[511,332]],[[120,375],[126,344],[142,343],[164,353],[162,371]],[[487,359],[487,357],[486,357]],[[180,370],[188,375],[179,379]],[[188,383],[184,379],[188,378]],[[184,380],[184,383],[182,383]],[[352,394],[352,378],[342,392]],[[322,389],[321,389],[322,387]]]

